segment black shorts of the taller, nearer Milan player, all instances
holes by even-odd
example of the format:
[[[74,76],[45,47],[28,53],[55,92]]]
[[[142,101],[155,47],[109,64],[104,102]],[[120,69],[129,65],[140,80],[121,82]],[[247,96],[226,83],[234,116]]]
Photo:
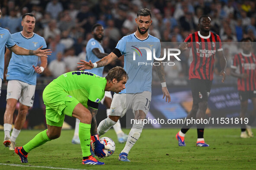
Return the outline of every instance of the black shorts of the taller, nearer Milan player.
[[[208,96],[211,91],[211,80],[191,79],[191,91],[193,97],[193,104],[198,104],[201,101],[208,101]]]

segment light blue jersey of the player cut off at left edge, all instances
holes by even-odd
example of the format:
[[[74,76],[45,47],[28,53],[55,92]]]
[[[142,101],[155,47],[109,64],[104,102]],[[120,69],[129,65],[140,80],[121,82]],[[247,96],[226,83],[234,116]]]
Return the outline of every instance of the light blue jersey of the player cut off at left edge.
[[[7,48],[13,47],[15,42],[7,29],[0,27],[0,79],[3,79],[3,69],[4,69],[4,50],[5,46]]]

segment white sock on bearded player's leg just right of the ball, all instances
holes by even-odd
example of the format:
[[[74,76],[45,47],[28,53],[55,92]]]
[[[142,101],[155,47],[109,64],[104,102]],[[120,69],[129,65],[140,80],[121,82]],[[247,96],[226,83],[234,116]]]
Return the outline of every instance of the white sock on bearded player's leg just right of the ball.
[[[139,136],[142,132],[143,124],[133,124],[132,129],[130,130],[130,133],[128,135],[128,139],[126,141],[125,147],[123,148],[124,153],[129,154],[129,151],[131,148],[133,148],[133,145],[137,142],[139,139]]]

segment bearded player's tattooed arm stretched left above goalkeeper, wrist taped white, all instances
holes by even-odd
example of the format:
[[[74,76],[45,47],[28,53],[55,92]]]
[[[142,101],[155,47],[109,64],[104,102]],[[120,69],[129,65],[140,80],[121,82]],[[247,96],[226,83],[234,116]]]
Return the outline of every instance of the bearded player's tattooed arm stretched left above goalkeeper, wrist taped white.
[[[111,52],[106,57],[102,58],[96,63],[92,63],[91,61],[87,62],[84,60],[80,60],[81,62],[78,63],[80,66],[78,66],[78,68],[79,70],[83,70],[83,69],[93,69],[97,67],[103,67],[103,66],[107,66],[109,63],[111,63],[113,60],[116,60],[116,59],[117,59],[117,55]]]

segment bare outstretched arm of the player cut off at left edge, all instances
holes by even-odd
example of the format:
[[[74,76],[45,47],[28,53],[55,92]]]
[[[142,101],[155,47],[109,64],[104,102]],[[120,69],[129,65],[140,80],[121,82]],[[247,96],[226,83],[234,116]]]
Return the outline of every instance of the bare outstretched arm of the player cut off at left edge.
[[[17,55],[36,55],[38,57],[48,57],[48,55],[51,55],[52,51],[50,49],[41,50],[42,46],[39,47],[36,50],[27,50],[23,47],[19,47],[18,45],[15,45],[13,47],[10,47],[10,50],[17,54]]]

